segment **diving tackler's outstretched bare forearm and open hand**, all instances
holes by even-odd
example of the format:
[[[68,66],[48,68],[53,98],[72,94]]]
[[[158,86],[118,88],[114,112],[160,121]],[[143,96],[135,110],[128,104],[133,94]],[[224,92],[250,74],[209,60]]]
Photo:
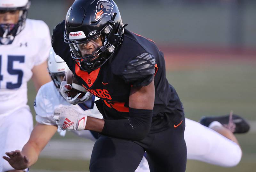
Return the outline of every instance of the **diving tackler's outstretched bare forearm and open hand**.
[[[7,152],[3,158],[10,163],[10,165],[22,170],[30,167],[36,163],[40,152],[56,133],[57,127],[55,125],[43,125],[37,123],[30,135],[28,142],[22,148],[22,151],[16,150]]]

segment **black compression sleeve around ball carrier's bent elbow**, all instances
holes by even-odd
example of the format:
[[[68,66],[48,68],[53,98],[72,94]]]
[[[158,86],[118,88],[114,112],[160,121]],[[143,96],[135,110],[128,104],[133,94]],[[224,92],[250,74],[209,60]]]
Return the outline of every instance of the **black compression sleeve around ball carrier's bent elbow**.
[[[102,134],[128,140],[144,139],[151,126],[153,110],[129,108],[130,118],[104,119]]]

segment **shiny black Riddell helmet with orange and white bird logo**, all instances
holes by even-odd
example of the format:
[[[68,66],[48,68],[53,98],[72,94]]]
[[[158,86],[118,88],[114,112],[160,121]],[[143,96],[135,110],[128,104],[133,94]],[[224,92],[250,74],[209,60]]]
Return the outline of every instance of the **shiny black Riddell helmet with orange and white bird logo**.
[[[91,72],[114,54],[123,32],[121,15],[113,0],[76,0],[66,16],[64,41],[80,69]],[[95,51],[84,53],[82,47],[89,41]]]

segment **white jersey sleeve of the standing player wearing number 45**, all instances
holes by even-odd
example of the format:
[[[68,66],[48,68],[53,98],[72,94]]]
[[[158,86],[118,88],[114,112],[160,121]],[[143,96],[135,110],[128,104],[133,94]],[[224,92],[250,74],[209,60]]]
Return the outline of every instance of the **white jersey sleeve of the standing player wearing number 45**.
[[[35,57],[35,66],[40,65],[44,61],[47,60],[51,45],[51,36],[49,27],[44,23],[44,21],[36,20],[34,27],[37,29],[37,36],[38,36],[38,52],[36,53],[37,57]]]

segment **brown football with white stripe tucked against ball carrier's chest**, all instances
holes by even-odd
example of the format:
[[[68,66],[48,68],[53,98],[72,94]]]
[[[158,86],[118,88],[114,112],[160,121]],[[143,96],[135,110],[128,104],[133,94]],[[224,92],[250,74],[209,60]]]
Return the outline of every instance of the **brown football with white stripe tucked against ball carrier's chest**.
[[[72,89],[67,92],[69,94],[68,96],[76,97],[77,94],[82,93],[78,98],[83,97],[86,93],[86,89],[83,87],[82,83],[77,81],[71,70],[68,69],[65,76],[67,84],[72,86]]]

